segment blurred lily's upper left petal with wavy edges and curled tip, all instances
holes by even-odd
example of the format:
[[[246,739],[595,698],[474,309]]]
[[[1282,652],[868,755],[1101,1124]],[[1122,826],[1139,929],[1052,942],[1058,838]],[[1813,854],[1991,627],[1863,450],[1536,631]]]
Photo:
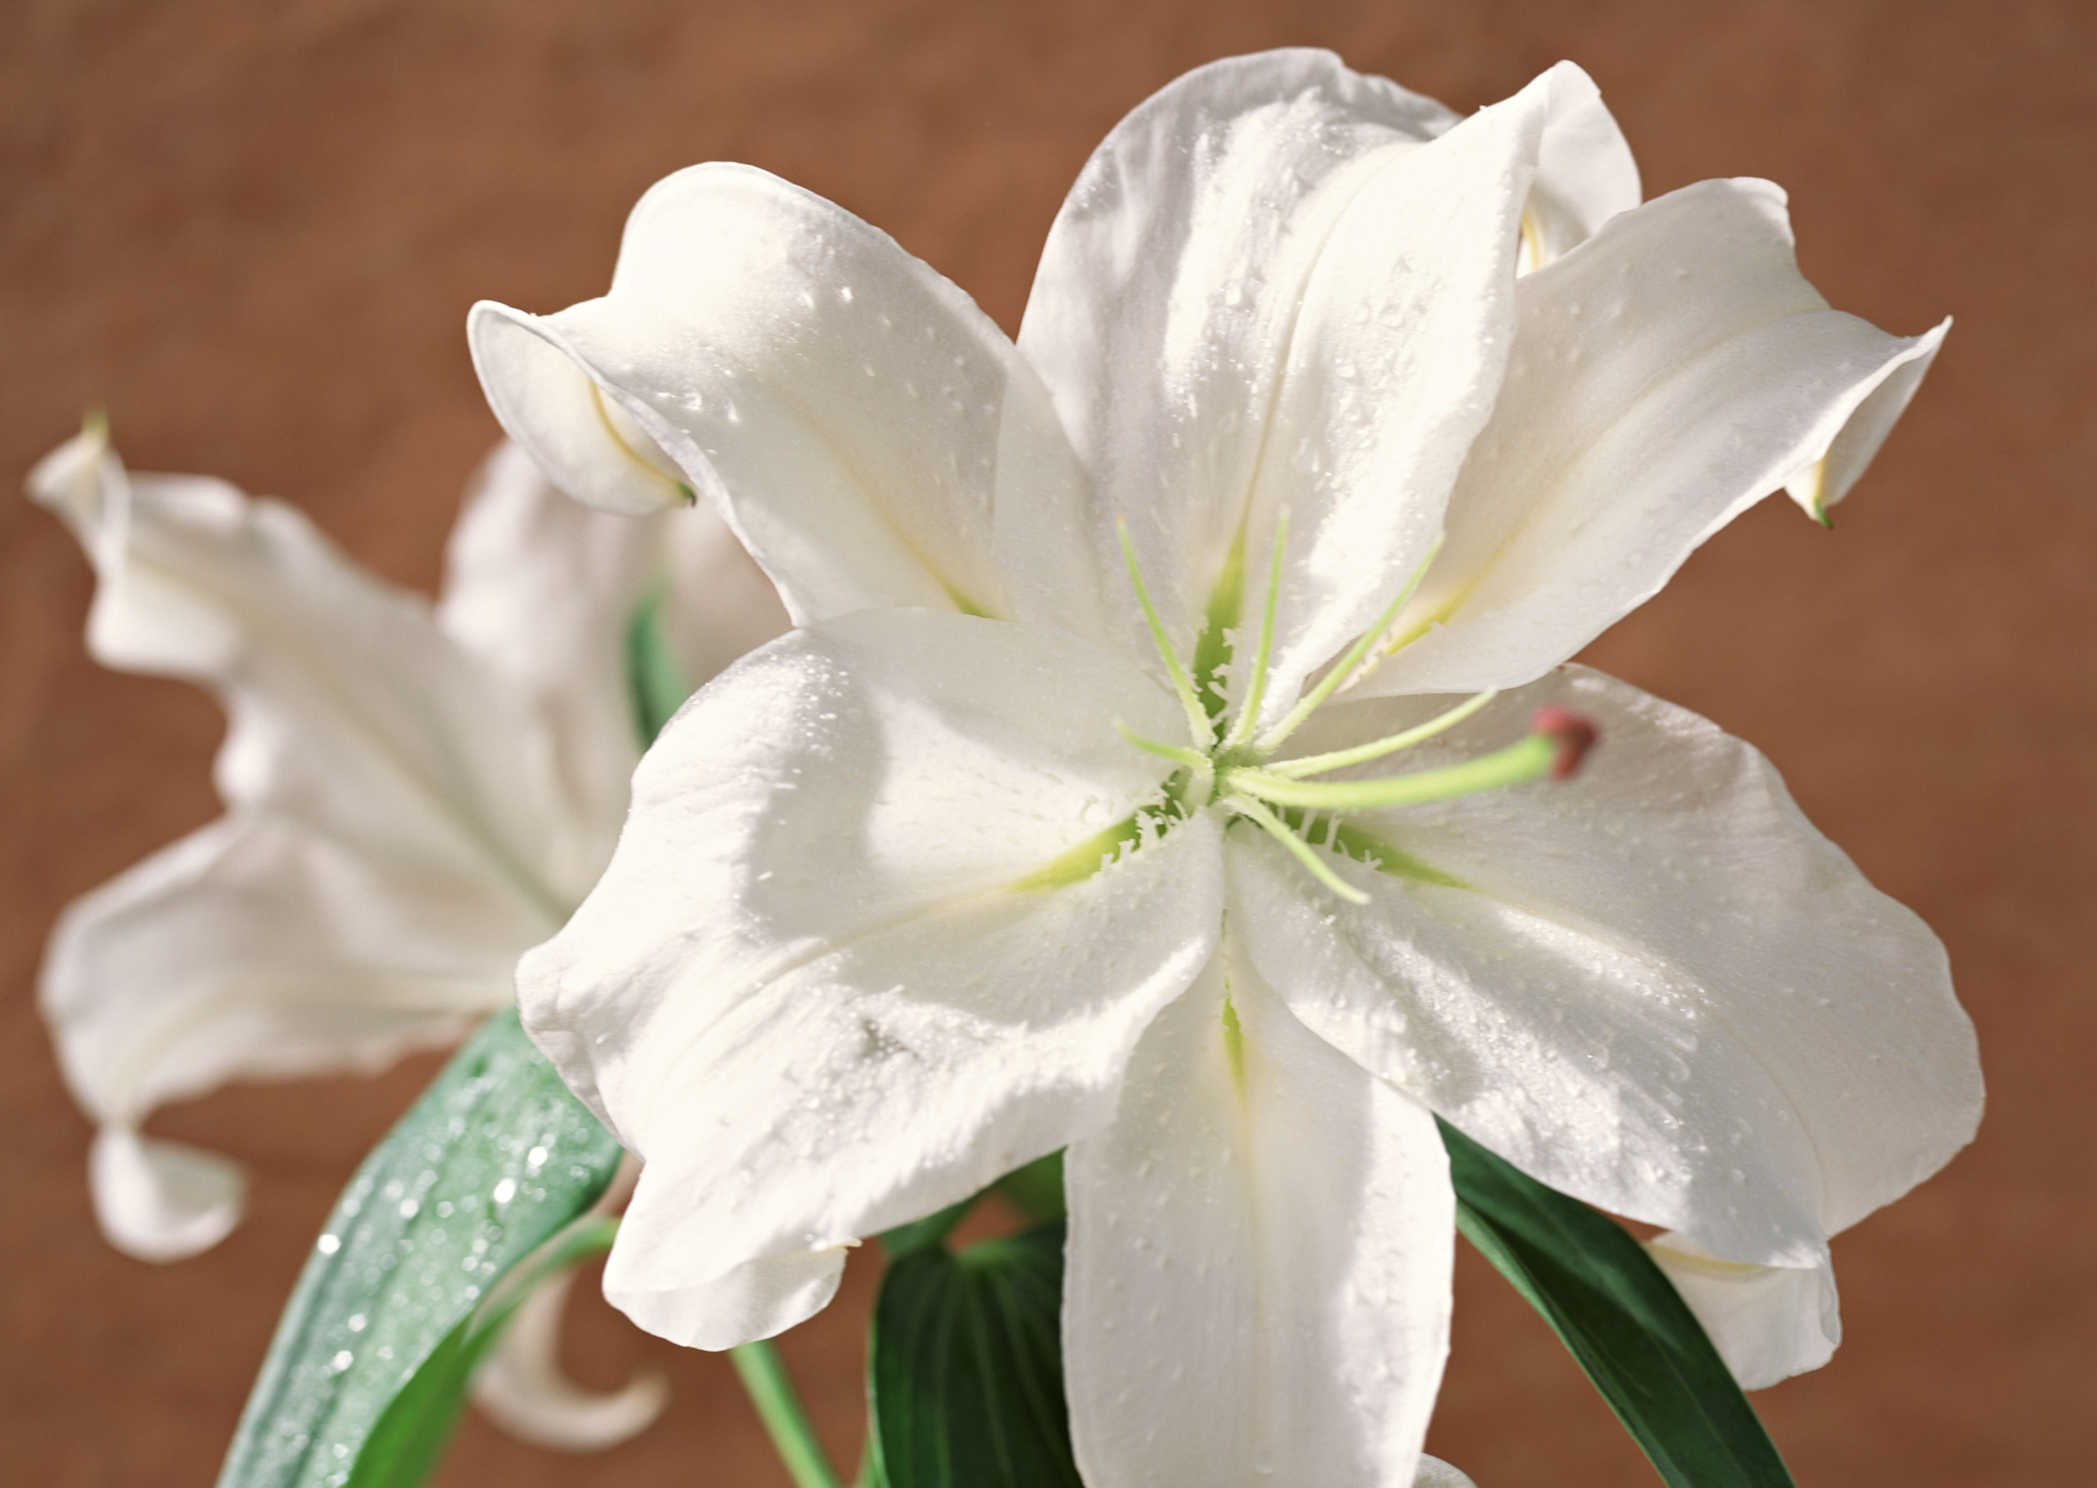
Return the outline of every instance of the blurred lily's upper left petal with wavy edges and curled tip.
[[[220,480],[130,476],[84,434],[31,474],[96,566],[88,650],[182,677],[231,717],[216,780],[405,874],[463,874],[560,922],[535,863],[549,759],[528,713],[430,606],[350,564],[296,509]]]

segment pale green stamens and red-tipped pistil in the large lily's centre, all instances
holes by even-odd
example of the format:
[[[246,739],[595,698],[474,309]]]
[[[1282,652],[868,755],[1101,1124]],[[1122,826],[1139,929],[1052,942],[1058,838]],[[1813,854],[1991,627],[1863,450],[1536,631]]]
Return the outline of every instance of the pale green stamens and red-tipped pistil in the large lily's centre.
[[[1376,625],[1363,631],[1340,660],[1325,671],[1277,723],[1258,729],[1260,708],[1267,700],[1267,679],[1275,645],[1275,608],[1281,591],[1281,557],[1288,545],[1288,511],[1275,520],[1273,557],[1267,574],[1267,595],[1260,608],[1258,641],[1252,654],[1252,669],[1231,713],[1223,685],[1218,683],[1231,645],[1223,639],[1223,629],[1235,618],[1237,591],[1241,587],[1241,557],[1233,555],[1220,591],[1229,591],[1225,601],[1212,604],[1208,625],[1195,645],[1195,673],[1189,675],[1185,662],[1166,635],[1158,606],[1137,566],[1134,545],[1128,539],[1128,524],[1120,528],[1122,557],[1128,564],[1128,583],[1143,606],[1143,620],[1151,631],[1151,643],[1164,660],[1172,692],[1187,715],[1187,729],[1193,744],[1164,744],[1122,727],[1137,748],[1168,759],[1179,771],[1166,782],[1164,801],[1147,813],[1111,828],[1103,838],[1111,843],[1086,843],[1080,853],[1097,847],[1120,847],[1141,843],[1145,836],[1164,830],[1170,819],[1185,817],[1202,807],[1220,807],[1244,817],[1273,836],[1290,851],[1321,884],[1348,903],[1367,903],[1367,895],[1346,882],[1332,863],[1332,855],[1380,861],[1392,866],[1392,849],[1340,817],[1348,811],[1380,811],[1392,807],[1415,807],[1430,801],[1470,796],[1483,790],[1499,790],[1531,780],[1566,780],[1577,769],[1585,752],[1594,746],[1596,727],[1590,719],[1571,708],[1537,708],[1529,719],[1529,734],[1514,744],[1434,769],[1415,769],[1403,775],[1378,775],[1371,780],[1317,780],[1338,769],[1367,765],[1369,761],[1397,754],[1413,744],[1443,734],[1493,700],[1493,692],[1480,692],[1399,734],[1388,734],[1365,744],[1332,750],[1325,754],[1302,754],[1275,761],[1273,754],[1302,723],[1350,679],[1363,675],[1378,658],[1371,650],[1386,635],[1399,610],[1420,585],[1426,564],[1407,581],[1399,595],[1384,608]],[[1434,562],[1430,553],[1428,564]],[[1323,849],[1323,851],[1321,851]],[[1097,868],[1099,859],[1093,857]],[[1426,863],[1403,863],[1405,876],[1436,882],[1455,882]]]

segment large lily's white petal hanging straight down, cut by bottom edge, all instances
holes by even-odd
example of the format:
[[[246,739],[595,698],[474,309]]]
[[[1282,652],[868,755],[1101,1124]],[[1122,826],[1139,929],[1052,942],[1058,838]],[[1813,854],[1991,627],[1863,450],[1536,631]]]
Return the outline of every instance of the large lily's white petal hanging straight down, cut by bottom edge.
[[[1455,1230],[1424,1107],[1227,951],[1158,1014],[1114,1125],[1065,1163],[1086,1484],[1413,1484]]]

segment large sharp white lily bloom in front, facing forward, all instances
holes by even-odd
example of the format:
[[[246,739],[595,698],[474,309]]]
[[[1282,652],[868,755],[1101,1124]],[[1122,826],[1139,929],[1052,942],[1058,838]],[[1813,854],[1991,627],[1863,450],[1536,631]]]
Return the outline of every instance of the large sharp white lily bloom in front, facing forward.
[[[1942,949],[1749,746],[1562,664],[1755,499],[1837,501],[1940,337],[1829,310],[1766,182],[1640,205],[1571,65],[1457,119],[1304,50],[1109,134],[1017,348],[736,166],[642,199],[606,298],[476,308],[558,484],[702,493],[803,627],[520,966],[646,1163],[606,1293],[776,1333],[1067,1144],[1086,1482],[1411,1484],[1434,1115],[1818,1272],[1977,1119]],[[1571,710],[1606,746],[1537,780]]]

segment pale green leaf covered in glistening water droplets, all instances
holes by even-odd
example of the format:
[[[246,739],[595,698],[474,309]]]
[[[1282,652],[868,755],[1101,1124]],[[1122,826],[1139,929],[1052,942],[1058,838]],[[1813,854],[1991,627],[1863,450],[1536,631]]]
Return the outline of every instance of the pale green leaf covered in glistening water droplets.
[[[489,1019],[336,1203],[220,1488],[348,1484],[394,1398],[430,1387],[415,1385],[424,1366],[447,1343],[472,1341],[472,1331],[453,1335],[497,1281],[596,1203],[617,1167],[619,1142],[560,1084],[516,1010]]]

